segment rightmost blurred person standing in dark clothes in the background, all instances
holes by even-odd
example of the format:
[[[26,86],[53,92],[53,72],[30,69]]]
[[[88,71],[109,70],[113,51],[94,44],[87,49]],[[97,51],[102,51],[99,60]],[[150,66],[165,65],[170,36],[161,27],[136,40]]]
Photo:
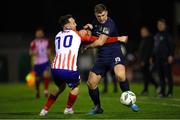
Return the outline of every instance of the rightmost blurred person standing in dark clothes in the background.
[[[175,44],[170,35],[165,19],[157,21],[158,32],[154,36],[154,61],[160,79],[161,90],[159,97],[172,97],[173,95],[173,77],[172,77],[172,63],[174,58]],[[166,94],[166,78],[168,83],[168,90]]]

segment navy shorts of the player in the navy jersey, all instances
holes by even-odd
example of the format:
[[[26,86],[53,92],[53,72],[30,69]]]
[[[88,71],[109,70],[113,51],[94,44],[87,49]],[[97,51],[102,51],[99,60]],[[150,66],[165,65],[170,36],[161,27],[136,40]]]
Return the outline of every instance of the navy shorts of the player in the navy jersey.
[[[114,67],[117,64],[125,65],[125,57],[122,54],[122,52],[114,53],[111,58],[97,58],[95,65],[91,69],[92,72],[94,72],[96,75],[101,75],[101,77],[104,77],[104,75],[109,71],[113,70]]]

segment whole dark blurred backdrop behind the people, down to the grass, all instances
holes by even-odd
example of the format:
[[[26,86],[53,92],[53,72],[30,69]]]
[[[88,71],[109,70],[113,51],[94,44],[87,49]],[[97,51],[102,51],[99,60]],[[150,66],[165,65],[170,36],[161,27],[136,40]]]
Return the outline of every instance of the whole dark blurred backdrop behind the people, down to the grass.
[[[140,43],[140,27],[147,25],[156,33],[156,21],[167,20],[169,31],[176,43],[173,77],[180,83],[180,1],[178,0],[6,0],[0,4],[0,82],[25,82],[30,71],[30,42],[34,31],[42,26],[54,52],[54,36],[59,32],[58,19],[72,14],[80,29],[94,18],[93,7],[104,3],[109,16],[116,22],[120,35],[128,35],[125,53],[130,64],[128,77],[140,81],[141,73],[136,65],[136,52]],[[87,51],[79,58],[82,79],[95,60],[96,50]]]

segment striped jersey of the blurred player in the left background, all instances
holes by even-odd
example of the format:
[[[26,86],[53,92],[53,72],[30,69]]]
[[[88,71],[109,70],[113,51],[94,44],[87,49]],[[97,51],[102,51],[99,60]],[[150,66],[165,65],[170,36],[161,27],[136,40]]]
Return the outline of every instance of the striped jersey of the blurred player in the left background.
[[[49,60],[49,42],[47,39],[34,39],[31,42],[30,49],[36,51],[36,54],[33,59],[34,64],[43,64]]]

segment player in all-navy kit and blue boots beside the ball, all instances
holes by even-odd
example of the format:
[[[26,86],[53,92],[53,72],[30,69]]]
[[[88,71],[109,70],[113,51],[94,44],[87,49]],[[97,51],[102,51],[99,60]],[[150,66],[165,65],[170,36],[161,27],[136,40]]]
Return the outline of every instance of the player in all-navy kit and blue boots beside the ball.
[[[108,17],[108,11],[103,4],[97,4],[94,7],[96,19],[92,24],[86,24],[84,29],[92,29],[92,35],[98,36],[98,39],[87,45],[84,49],[98,47],[96,63],[89,73],[87,81],[89,95],[94,103],[94,107],[89,114],[103,113],[99,98],[98,83],[108,70],[114,70],[119,81],[122,92],[129,91],[129,83],[125,75],[125,58],[122,54],[120,42],[105,45],[108,37],[119,36],[114,21]],[[129,106],[133,111],[138,111],[136,104]]]

